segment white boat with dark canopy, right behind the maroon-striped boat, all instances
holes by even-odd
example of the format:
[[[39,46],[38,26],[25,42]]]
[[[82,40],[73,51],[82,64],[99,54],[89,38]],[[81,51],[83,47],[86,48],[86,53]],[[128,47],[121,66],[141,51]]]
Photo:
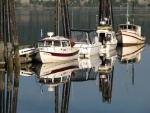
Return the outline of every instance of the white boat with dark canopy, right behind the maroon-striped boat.
[[[79,49],[80,57],[89,58],[91,55],[98,55],[101,43],[95,37],[93,30],[72,30],[72,39],[75,42],[74,48]]]

